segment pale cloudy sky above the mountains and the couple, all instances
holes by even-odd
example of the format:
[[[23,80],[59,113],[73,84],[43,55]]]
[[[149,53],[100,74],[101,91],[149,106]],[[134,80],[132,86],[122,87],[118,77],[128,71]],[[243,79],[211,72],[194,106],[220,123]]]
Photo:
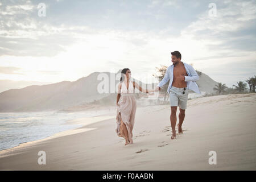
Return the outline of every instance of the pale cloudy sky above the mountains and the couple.
[[[0,80],[141,80],[173,51],[229,87],[253,77],[256,1],[0,1]]]

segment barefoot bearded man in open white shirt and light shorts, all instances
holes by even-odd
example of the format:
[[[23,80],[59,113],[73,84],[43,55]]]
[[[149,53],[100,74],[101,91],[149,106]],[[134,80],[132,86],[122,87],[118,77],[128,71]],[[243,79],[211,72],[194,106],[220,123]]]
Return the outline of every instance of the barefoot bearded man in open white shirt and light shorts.
[[[178,132],[179,134],[183,133],[182,131],[182,123],[185,118],[185,109],[187,109],[187,101],[188,101],[188,90],[193,90],[196,93],[201,93],[199,87],[196,84],[196,81],[199,80],[199,76],[197,75],[195,69],[181,61],[181,54],[179,51],[171,52],[172,55],[172,65],[167,68],[166,74],[162,81],[159,82],[158,86],[156,86],[156,90],[160,90],[164,84],[170,80],[168,85],[167,92],[170,94],[170,104],[171,104],[171,127],[172,127],[172,137],[171,139],[176,138],[176,111],[177,106],[179,106],[179,124]]]

